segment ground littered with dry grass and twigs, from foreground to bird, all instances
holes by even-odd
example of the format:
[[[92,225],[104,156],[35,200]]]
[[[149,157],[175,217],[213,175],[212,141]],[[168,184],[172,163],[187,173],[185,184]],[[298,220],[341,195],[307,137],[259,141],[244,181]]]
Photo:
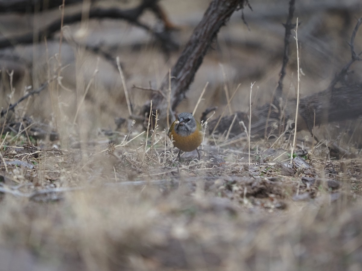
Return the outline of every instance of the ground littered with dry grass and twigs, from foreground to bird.
[[[247,138],[206,136],[177,162],[157,130],[58,149],[37,127],[2,137],[0,270],[362,267],[358,155],[252,140],[249,164]]]

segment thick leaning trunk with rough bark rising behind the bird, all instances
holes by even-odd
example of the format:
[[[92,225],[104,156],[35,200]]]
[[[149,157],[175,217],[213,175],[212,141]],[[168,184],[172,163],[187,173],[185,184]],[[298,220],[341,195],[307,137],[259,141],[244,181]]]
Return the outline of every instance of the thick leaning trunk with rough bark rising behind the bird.
[[[201,22],[196,26],[188,43],[182,51],[177,63],[171,69],[171,76],[167,74],[160,86],[163,94],[153,94],[152,111],[158,109],[159,118],[165,119],[167,115],[168,101],[167,92],[169,89],[169,79],[171,77],[171,97],[170,113],[174,111],[178,104],[185,98],[190,84],[193,82],[195,73],[202,63],[203,57],[210,48],[211,43],[216,38],[220,28],[226,24],[231,14],[244,5],[247,0],[213,0],[207,8]],[[147,116],[150,112],[150,102],[147,102],[142,110]],[[161,121],[160,123],[166,123]]]

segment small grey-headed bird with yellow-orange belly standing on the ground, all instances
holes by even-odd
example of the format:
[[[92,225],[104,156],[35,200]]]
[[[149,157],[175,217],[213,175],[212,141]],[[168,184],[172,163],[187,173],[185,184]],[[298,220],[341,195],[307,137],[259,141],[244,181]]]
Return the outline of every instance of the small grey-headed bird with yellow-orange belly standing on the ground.
[[[193,151],[195,149],[200,160],[200,153],[197,148],[202,142],[203,129],[191,113],[180,113],[177,120],[172,123],[167,135],[170,139],[172,137],[173,145],[180,149],[177,155],[179,160],[181,151]]]

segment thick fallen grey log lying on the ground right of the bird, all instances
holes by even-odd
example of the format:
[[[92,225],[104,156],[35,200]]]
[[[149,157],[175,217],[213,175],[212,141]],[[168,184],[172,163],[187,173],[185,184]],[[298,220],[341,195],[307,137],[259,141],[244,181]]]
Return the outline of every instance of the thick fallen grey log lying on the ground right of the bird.
[[[333,121],[344,121],[357,119],[362,116],[362,85],[344,86],[340,88],[327,89],[300,99],[298,130],[309,130],[313,126],[327,124]],[[255,109],[252,112],[251,134],[252,136],[263,137],[265,127],[267,134],[279,135],[280,131],[288,128],[288,122],[294,120],[296,100],[289,100],[284,108],[284,117],[279,117],[279,111],[271,106],[270,116],[268,111],[270,104]],[[315,116],[315,124],[314,124]],[[215,133],[222,134],[230,128],[234,115],[222,118],[215,129]],[[300,121],[299,121],[300,120]],[[236,136],[244,131],[241,121],[248,123],[248,114],[237,112],[236,119],[231,128],[230,136]],[[209,123],[210,133],[214,130],[218,120]]]

